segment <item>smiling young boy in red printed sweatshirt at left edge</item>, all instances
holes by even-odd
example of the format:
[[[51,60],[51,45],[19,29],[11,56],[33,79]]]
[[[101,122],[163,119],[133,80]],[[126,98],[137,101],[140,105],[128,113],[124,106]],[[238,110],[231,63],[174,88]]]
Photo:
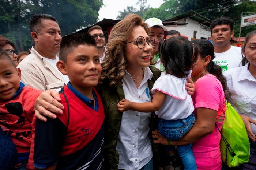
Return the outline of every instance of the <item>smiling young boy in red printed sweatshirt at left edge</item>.
[[[20,82],[20,69],[16,69],[10,56],[1,50],[0,63],[0,126],[4,133],[11,137],[18,151],[15,168],[35,169],[33,147],[31,147],[32,130],[35,127],[34,104],[42,91],[24,87],[24,84]],[[10,150],[7,149],[6,153],[2,151],[2,156],[7,158]],[[8,160],[10,161],[11,158]]]

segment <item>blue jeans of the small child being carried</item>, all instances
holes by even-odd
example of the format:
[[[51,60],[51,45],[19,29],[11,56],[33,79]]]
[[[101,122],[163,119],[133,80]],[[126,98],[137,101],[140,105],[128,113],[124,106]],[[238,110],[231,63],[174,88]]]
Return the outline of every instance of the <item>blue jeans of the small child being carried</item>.
[[[159,118],[158,130],[167,139],[176,141],[181,139],[195,124],[196,118],[192,113],[185,119],[180,120],[164,120]],[[175,146],[166,146],[167,151],[172,151]],[[196,170],[196,161],[192,151],[192,143],[188,145],[177,146],[180,154],[184,170]]]

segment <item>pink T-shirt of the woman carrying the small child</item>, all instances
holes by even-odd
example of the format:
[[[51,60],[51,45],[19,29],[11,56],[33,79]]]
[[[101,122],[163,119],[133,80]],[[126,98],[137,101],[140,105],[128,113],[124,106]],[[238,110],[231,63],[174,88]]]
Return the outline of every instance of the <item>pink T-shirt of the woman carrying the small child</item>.
[[[216,118],[224,119],[219,118],[219,116],[222,115],[223,112],[226,113],[225,94],[221,82],[214,75],[207,74],[197,80],[192,100],[195,106],[195,116],[196,108],[204,107],[218,111]],[[207,112],[205,114],[207,114]],[[220,130],[223,122],[216,122]],[[220,140],[221,134],[217,127],[214,127],[213,133],[193,143],[192,149],[198,170],[221,169]]]

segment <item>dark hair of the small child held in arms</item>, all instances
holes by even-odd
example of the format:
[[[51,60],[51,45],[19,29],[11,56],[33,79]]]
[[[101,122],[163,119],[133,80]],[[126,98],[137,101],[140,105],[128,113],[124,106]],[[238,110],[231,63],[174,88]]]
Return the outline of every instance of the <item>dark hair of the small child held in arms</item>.
[[[189,74],[193,58],[193,45],[185,37],[176,36],[159,43],[159,55],[163,58],[163,66],[172,75],[184,78]]]

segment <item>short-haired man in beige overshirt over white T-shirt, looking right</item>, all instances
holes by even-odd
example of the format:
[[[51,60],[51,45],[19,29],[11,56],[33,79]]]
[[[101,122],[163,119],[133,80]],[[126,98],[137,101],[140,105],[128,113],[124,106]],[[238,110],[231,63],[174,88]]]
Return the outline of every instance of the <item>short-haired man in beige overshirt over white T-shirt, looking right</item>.
[[[48,14],[35,14],[29,20],[29,29],[35,46],[31,48],[31,54],[18,65],[22,71],[21,81],[26,86],[42,91],[59,91],[69,79],[56,67],[59,60],[56,54],[61,40],[57,20]]]

